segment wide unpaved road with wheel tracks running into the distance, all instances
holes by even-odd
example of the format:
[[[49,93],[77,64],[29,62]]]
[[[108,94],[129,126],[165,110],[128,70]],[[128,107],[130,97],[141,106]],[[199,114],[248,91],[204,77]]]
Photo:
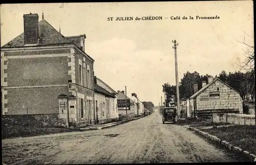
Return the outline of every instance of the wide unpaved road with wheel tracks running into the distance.
[[[6,164],[239,161],[186,128],[151,116],[115,127],[3,140]]]

